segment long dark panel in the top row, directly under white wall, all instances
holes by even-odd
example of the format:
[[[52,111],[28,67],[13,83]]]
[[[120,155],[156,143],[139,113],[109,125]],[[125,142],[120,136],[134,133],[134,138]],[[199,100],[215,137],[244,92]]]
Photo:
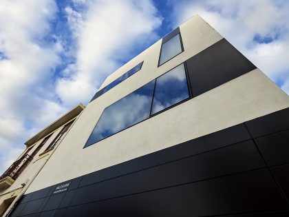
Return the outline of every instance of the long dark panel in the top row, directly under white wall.
[[[243,124],[83,176],[80,187],[250,139]]]

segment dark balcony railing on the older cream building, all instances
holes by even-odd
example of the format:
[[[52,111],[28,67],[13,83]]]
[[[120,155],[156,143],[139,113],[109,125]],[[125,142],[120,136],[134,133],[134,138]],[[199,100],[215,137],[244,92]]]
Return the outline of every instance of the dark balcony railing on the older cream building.
[[[4,172],[2,176],[0,176],[0,180],[7,176],[10,176],[13,180],[16,180],[23,170],[28,166],[28,164],[32,161],[32,156],[29,154],[23,155],[19,160],[15,161],[7,170]]]

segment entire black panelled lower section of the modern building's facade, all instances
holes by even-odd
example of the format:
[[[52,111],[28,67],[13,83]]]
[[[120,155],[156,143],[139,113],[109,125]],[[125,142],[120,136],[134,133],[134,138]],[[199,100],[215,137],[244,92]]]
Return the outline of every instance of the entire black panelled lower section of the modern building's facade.
[[[272,143],[264,144],[259,143],[256,139],[256,146],[250,134],[254,135],[257,130],[258,134],[255,136],[274,135],[278,144],[281,144],[283,152],[288,152],[287,146],[282,145],[282,143],[287,143],[287,140],[284,140],[287,138],[289,130],[289,123],[286,121],[288,115],[289,108],[101,169],[92,174],[74,178],[69,184],[67,192],[53,194],[56,186],[63,185],[60,183],[27,194],[12,216],[39,214],[41,211],[41,214],[44,214],[44,211],[52,209],[54,211],[51,212],[56,212],[57,209],[57,212],[61,213],[63,208],[67,209],[65,209],[66,216],[116,215],[113,211],[109,212],[110,209],[105,208],[107,206],[118,211],[120,216],[130,216],[132,213],[141,214],[138,212],[141,206],[139,203],[142,200],[148,201],[148,198],[156,198],[156,201],[160,203],[160,206],[156,205],[155,207],[147,207],[147,203],[144,203],[145,210],[151,210],[150,216],[181,210],[182,216],[286,210],[287,202],[279,193],[278,185],[271,177],[264,160],[268,164],[272,158],[279,158],[277,161],[283,163],[282,166],[270,168],[277,178],[281,192],[286,196],[289,196],[286,188],[288,178],[285,175],[289,171],[289,160],[284,158],[281,152],[279,155],[274,153],[275,156],[268,156],[268,150],[275,147],[274,140]],[[244,124],[249,126],[250,133]],[[279,136],[276,137],[276,135]],[[263,148],[261,148],[262,146]],[[261,155],[258,153],[257,147],[260,149]],[[200,177],[193,178],[193,176]],[[173,184],[175,186],[171,187]],[[141,189],[150,192],[140,193],[136,196],[135,194],[141,192]],[[247,201],[237,200],[244,194],[247,196]],[[111,199],[109,196],[125,197]],[[182,203],[176,203],[178,202],[176,198],[179,197],[180,200],[182,198]],[[106,198],[107,202],[96,202],[97,198]],[[262,198],[267,199],[264,201]],[[156,201],[154,203],[157,203]],[[174,205],[171,204],[172,201],[174,201]],[[190,207],[186,201],[198,202],[193,203],[195,205],[191,204]],[[226,207],[226,203],[231,203],[231,207]],[[123,209],[118,204],[122,204]],[[166,209],[163,207],[164,204],[168,205]],[[130,212],[128,206],[136,207],[136,209]],[[206,209],[202,209],[202,207],[206,207]],[[104,210],[108,210],[106,214],[102,212]],[[145,210],[144,214],[147,214]]]

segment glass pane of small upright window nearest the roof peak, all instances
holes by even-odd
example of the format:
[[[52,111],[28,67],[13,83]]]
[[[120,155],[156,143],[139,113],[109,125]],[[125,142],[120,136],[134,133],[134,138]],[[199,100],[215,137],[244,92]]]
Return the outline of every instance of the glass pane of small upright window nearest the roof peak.
[[[162,51],[160,53],[160,65],[173,58],[173,56],[180,54],[180,52],[182,52],[182,46],[180,43],[180,34],[177,34],[175,37],[162,44]]]

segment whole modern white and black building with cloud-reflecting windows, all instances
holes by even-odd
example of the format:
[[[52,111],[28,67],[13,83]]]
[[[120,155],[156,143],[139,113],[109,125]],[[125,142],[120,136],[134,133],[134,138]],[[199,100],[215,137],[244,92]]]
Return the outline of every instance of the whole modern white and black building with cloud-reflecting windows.
[[[195,16],[105,80],[11,216],[288,216],[288,138],[289,96]]]

